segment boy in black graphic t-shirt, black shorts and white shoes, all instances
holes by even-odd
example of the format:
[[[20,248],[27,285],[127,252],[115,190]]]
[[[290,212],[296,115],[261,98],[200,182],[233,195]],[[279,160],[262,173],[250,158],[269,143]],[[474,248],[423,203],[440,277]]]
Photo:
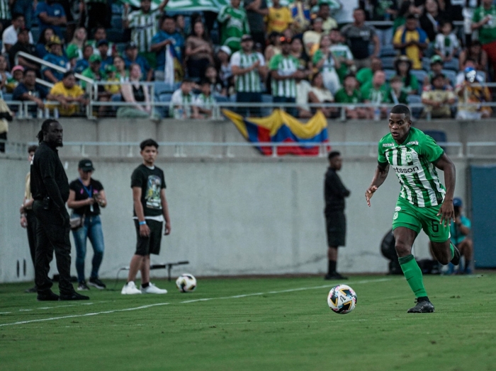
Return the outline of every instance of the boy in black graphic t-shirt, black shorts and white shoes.
[[[165,220],[164,235],[171,232],[169,207],[165,198],[164,171],[154,166],[159,144],[147,139],[140,144],[143,164],[138,166],[131,176],[137,244],[136,252],[131,258],[128,282],[121,294],[167,294],[150,282],[150,254],[158,255],[162,240],[162,224]],[[138,270],[141,270],[141,287],[135,285]]]

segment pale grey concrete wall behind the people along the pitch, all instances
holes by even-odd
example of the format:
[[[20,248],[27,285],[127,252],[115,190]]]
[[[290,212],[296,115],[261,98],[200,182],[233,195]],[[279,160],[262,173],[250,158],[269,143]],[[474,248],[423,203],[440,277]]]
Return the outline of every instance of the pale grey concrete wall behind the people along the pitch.
[[[66,164],[69,179],[77,178],[77,161]],[[118,268],[128,266],[133,255],[130,173],[137,164],[137,159],[95,161],[94,177],[108,195],[108,207],[102,213],[103,278],[115,278]],[[162,253],[152,258],[153,263],[188,260],[190,266],[176,268],[174,273],[195,275],[324,273],[327,269],[322,195],[325,159],[160,159],[158,166],[165,171],[172,233],[164,237]],[[344,163],[341,176],[351,197],[346,205],[347,243],[339,257],[342,272],[387,270],[379,244],[390,229],[399,185],[390,174],[368,208],[363,193],[375,166],[374,159]],[[464,197],[467,163],[456,161],[456,166],[456,195]],[[27,171],[26,159],[0,159],[0,282],[33,279],[26,232],[18,222]],[[417,239],[415,253],[428,256],[424,234]],[[75,273],[74,256],[73,245]],[[88,273],[91,256],[88,246]],[[17,261],[21,262],[19,277]],[[153,274],[162,277],[166,273]]]

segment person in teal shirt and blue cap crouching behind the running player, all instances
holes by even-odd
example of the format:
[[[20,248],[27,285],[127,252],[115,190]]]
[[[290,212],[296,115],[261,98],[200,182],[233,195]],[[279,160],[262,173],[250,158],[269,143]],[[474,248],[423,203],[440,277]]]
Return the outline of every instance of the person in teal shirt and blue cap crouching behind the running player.
[[[453,198],[453,209],[455,210],[455,220],[451,222],[450,234],[451,243],[455,245],[461,253],[461,256],[465,258],[465,269],[459,266],[458,273],[460,274],[472,274],[472,268],[470,267],[470,262],[473,256],[473,242],[468,238],[470,234],[471,222],[468,217],[462,214],[463,202],[461,198]],[[450,266],[450,269],[452,267]]]

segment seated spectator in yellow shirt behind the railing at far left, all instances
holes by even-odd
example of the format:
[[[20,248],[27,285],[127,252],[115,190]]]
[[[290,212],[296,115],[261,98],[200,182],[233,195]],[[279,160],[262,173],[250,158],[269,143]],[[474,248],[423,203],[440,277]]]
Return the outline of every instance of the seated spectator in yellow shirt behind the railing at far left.
[[[61,116],[72,116],[79,112],[80,105],[87,105],[88,100],[84,98],[84,91],[76,84],[74,72],[65,72],[62,81],[57,82],[50,90],[50,94],[60,103],[59,113]]]

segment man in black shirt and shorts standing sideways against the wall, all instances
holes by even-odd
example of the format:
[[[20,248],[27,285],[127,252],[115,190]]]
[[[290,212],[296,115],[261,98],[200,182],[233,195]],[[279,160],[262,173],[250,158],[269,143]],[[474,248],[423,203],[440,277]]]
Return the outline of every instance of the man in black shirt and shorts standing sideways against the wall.
[[[341,170],[343,158],[339,152],[329,153],[329,169],[325,173],[324,198],[325,222],[327,226],[327,258],[329,270],[325,280],[346,280],[336,271],[337,248],[345,245],[346,217],[344,216],[344,198],[349,196],[337,171]]]

